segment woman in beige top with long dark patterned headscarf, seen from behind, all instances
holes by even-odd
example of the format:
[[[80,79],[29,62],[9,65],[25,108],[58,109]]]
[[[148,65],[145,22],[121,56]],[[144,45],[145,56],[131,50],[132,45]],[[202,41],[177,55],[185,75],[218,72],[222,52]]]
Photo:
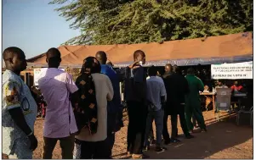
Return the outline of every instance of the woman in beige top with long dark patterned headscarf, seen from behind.
[[[94,57],[83,60],[76,85],[79,102],[75,107],[77,128],[74,157],[78,159],[107,159],[107,101],[113,97],[111,80],[100,74],[100,63]]]

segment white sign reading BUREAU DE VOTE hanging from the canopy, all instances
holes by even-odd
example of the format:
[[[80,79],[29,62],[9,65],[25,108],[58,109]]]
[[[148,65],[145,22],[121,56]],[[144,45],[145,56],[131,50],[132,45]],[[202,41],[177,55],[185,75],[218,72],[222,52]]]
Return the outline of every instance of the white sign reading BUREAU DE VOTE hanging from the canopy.
[[[253,79],[253,62],[211,65],[212,79]]]

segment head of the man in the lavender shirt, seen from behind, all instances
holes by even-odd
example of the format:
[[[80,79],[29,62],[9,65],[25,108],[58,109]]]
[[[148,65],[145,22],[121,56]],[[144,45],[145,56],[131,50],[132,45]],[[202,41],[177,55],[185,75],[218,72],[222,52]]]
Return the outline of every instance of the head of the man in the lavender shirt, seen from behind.
[[[59,49],[52,47],[46,52],[46,62],[48,68],[59,68],[61,62],[61,54]]]

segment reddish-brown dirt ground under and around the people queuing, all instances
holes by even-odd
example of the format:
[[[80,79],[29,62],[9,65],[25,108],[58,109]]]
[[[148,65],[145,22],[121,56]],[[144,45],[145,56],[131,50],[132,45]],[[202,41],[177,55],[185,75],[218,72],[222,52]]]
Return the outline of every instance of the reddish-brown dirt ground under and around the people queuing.
[[[253,158],[253,128],[248,126],[247,117],[243,117],[241,125],[236,125],[236,119],[224,119],[216,122],[212,111],[204,112],[204,119],[208,125],[208,132],[193,134],[194,139],[184,139],[179,126],[180,143],[166,146],[165,152],[151,151],[145,152],[151,159],[221,159],[221,158]],[[116,135],[116,142],[113,148],[113,158],[126,157],[126,136],[128,117],[124,117],[125,127]],[[168,126],[170,122],[168,121]],[[169,129],[169,133],[171,130]],[[35,134],[38,140],[37,150],[33,158],[41,158],[43,152],[43,119],[37,119]],[[54,149],[53,158],[61,158],[60,144]]]

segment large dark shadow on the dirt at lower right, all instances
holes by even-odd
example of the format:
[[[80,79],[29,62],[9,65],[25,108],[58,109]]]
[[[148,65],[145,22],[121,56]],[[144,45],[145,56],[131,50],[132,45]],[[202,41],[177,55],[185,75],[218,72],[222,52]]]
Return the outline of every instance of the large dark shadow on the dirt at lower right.
[[[182,137],[181,142],[166,146],[165,152],[148,151],[145,152],[151,159],[202,159],[211,157],[216,152],[222,152],[227,148],[240,145],[253,138],[253,129],[249,126],[237,126],[236,117],[224,119],[215,123],[208,124],[208,132],[193,134],[195,139],[187,140]],[[237,150],[241,150],[238,147]],[[253,151],[252,151],[253,152]],[[245,153],[246,154],[246,153]],[[242,158],[224,155],[219,158]],[[252,158],[253,155],[243,155],[244,158]],[[214,157],[211,157],[214,158]],[[218,157],[216,157],[218,158]]]

